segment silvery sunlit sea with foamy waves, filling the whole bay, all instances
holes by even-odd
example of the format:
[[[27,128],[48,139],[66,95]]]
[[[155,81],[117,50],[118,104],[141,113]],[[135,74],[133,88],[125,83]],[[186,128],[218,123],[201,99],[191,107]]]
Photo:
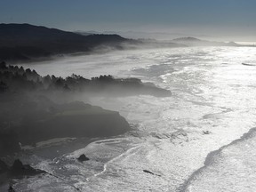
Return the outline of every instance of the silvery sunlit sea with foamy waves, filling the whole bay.
[[[15,187],[24,191],[255,191],[256,66],[242,63],[256,63],[255,48],[111,52],[24,65],[41,75],[135,76],[171,90],[172,97],[91,99],[92,104],[118,110],[136,125],[134,131],[84,144],[53,160],[30,156],[29,163],[54,177],[24,179]],[[82,153],[91,160],[77,162]]]

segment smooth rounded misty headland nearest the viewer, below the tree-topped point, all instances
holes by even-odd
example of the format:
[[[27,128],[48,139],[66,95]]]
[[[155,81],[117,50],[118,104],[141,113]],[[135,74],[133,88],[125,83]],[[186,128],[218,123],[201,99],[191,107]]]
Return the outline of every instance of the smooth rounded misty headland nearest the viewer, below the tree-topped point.
[[[8,100],[0,97],[0,107],[0,157],[19,151],[20,143],[35,145],[54,138],[108,137],[130,131],[118,112],[84,102],[56,104],[44,97],[16,95]]]

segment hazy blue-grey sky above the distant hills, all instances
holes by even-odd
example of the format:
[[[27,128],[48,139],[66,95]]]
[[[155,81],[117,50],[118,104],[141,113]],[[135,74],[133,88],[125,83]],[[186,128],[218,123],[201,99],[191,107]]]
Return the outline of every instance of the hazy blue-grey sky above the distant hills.
[[[71,31],[190,33],[256,41],[255,18],[256,0],[0,0],[0,22]]]

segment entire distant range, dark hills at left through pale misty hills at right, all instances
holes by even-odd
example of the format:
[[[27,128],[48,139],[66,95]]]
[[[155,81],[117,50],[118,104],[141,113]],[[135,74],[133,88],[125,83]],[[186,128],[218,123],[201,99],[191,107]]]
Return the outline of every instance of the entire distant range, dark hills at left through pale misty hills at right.
[[[156,49],[186,46],[237,46],[234,42],[211,42],[180,37],[171,42],[127,39],[116,34],[68,32],[24,24],[0,24],[0,62],[50,59],[54,55],[77,52],[108,52],[124,49]]]

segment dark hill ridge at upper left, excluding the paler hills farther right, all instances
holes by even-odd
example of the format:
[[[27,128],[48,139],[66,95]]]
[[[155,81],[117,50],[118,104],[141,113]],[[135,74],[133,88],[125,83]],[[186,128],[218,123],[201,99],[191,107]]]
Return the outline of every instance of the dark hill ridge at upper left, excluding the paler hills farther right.
[[[82,36],[57,28],[0,24],[0,60],[31,60],[73,52],[92,52],[104,44],[119,49],[130,40],[118,35]]]

